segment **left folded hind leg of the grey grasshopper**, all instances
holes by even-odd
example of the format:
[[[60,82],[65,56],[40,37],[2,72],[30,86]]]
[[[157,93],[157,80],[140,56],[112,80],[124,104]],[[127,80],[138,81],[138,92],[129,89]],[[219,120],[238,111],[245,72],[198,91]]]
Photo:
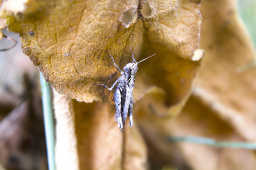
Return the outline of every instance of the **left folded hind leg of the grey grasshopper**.
[[[117,88],[114,94],[115,109],[117,109],[117,111],[115,112],[115,121],[117,122],[118,128],[120,129],[123,128],[122,116],[121,116],[121,97],[122,97],[121,94],[122,94],[122,90],[120,88]]]

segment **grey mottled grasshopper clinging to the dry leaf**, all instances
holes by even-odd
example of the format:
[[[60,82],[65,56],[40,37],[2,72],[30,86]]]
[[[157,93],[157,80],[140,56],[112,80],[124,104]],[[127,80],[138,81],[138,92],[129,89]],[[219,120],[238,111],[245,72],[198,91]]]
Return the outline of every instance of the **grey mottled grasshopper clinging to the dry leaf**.
[[[134,54],[132,54],[131,57],[133,57],[133,55]],[[153,54],[152,56],[154,55],[155,54]],[[138,70],[138,63],[152,56],[142,59],[139,62],[135,61],[133,57],[133,62],[127,63],[125,67],[123,67],[123,71],[120,70],[119,67],[115,64],[115,61],[110,53],[109,56],[112,58],[112,61],[117,70],[121,72],[121,76],[114,82],[114,84],[110,88],[105,84],[99,85],[105,86],[106,88],[108,88],[108,90],[112,91],[115,87],[115,84],[118,83],[117,88],[114,92],[115,108],[117,109],[117,111],[115,112],[115,121],[118,124],[118,128],[120,128],[122,131],[125,131],[127,115],[129,116],[130,127],[133,126],[133,88],[135,83],[135,74]]]

